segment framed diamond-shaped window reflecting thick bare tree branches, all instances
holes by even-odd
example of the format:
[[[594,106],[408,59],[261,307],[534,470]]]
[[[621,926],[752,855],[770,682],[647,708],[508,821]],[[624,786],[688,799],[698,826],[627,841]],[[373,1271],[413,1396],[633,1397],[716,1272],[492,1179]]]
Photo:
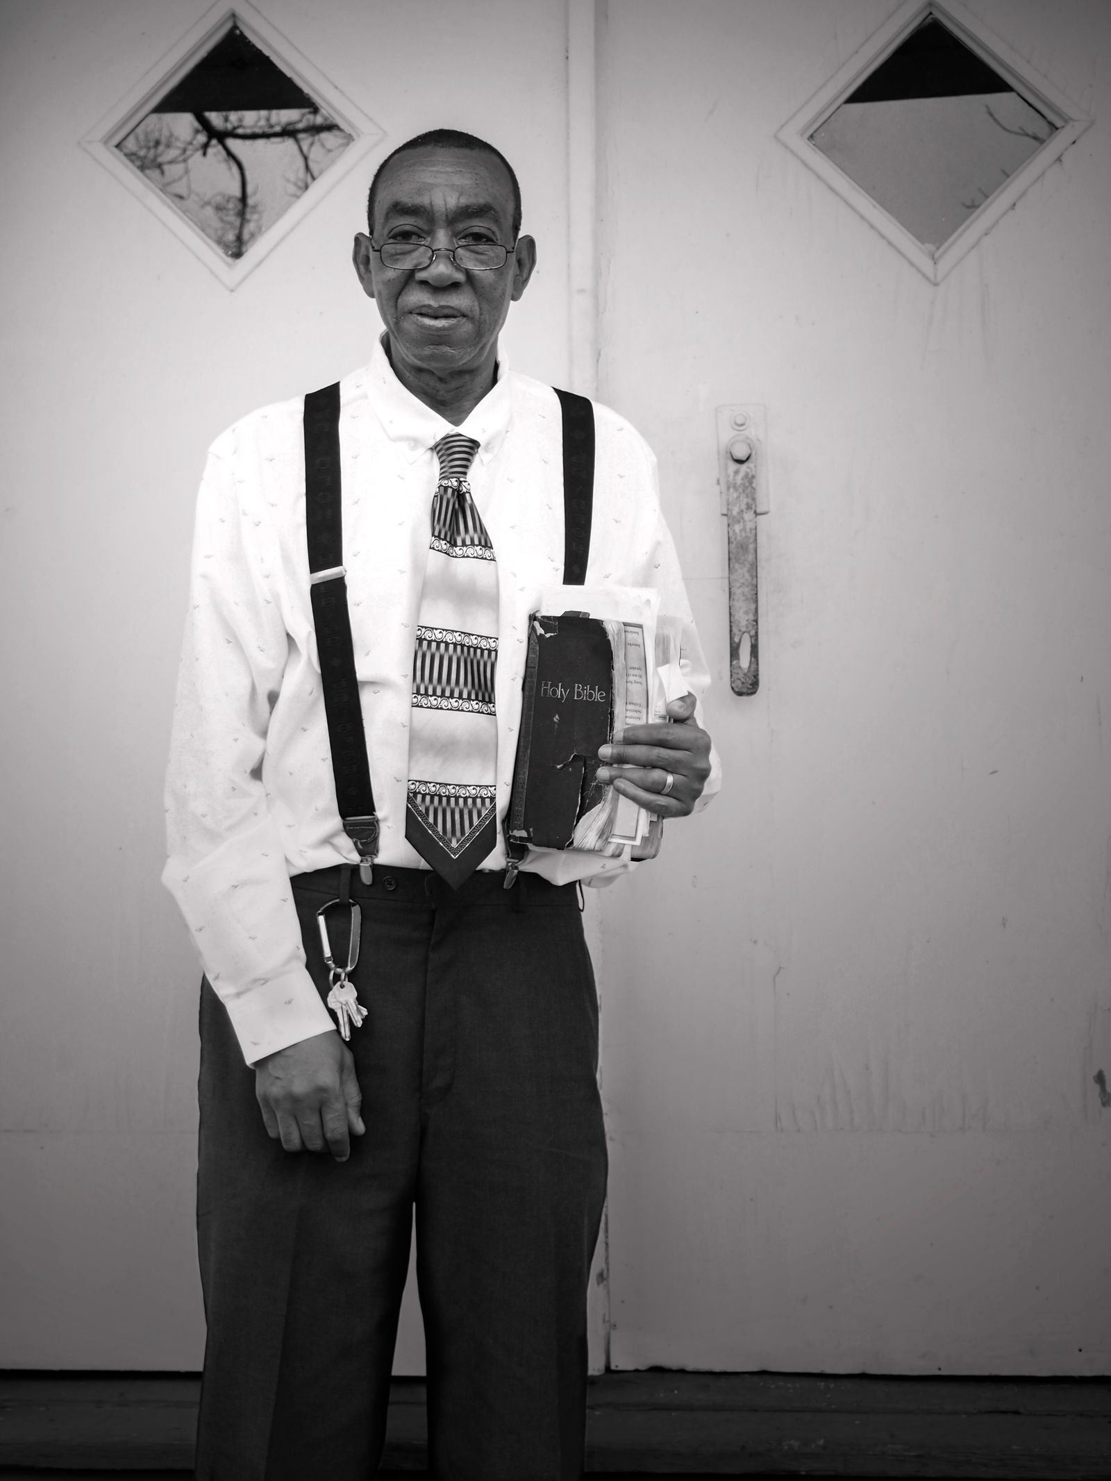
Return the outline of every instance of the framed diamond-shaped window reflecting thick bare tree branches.
[[[87,147],[233,287],[381,138],[249,4],[182,39],[113,117]]]

